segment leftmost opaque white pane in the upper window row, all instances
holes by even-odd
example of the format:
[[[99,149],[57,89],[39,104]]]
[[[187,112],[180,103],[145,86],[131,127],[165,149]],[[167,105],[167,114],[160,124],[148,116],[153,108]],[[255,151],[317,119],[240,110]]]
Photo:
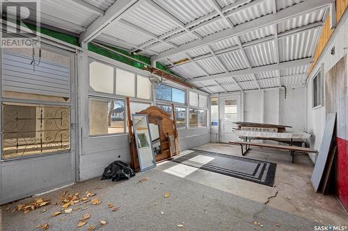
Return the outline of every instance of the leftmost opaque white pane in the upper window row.
[[[101,62],[91,62],[89,84],[96,92],[113,94],[113,67]]]

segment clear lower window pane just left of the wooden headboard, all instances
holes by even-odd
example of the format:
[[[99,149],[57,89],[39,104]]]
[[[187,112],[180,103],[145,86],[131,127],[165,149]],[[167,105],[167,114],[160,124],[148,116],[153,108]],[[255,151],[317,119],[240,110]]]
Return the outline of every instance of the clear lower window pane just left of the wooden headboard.
[[[125,132],[125,102],[90,99],[90,135]]]

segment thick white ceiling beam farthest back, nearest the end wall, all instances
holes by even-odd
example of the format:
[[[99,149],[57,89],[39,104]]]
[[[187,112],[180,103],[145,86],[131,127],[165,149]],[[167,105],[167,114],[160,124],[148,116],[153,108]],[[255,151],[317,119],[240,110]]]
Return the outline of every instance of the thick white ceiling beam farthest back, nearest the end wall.
[[[313,60],[314,60],[314,58],[303,58],[301,60],[292,60],[292,61],[287,61],[287,62],[280,62],[279,64],[265,65],[265,66],[261,66],[261,67],[253,67],[251,69],[242,69],[242,70],[238,70],[238,71],[230,71],[228,73],[215,74],[212,76],[203,76],[203,77],[193,78],[193,79],[189,80],[189,83],[197,83],[200,81],[215,80],[215,79],[227,78],[227,77],[231,77],[231,76],[255,74],[258,72],[274,71],[274,70],[278,70],[278,69],[287,69],[290,67],[301,67],[304,65],[310,65],[310,63],[313,62]]]

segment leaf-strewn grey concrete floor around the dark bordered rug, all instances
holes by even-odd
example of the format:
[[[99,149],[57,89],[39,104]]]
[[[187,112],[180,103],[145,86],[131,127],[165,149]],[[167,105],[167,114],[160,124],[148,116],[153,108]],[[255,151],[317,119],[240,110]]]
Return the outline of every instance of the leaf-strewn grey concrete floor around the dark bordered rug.
[[[239,147],[224,144],[205,144],[198,149],[240,155]],[[287,153],[255,148],[246,157],[277,163],[276,188],[162,162],[131,180],[95,178],[45,194],[40,197],[51,199],[52,204],[27,214],[6,209],[33,198],[3,205],[3,230],[38,230],[35,226],[42,223],[49,223],[49,230],[87,230],[88,225],[95,230],[313,230],[320,224],[348,225],[348,216],[338,200],[314,192],[310,185],[313,164],[306,155],[296,155],[292,164]],[[145,177],[150,180],[139,183]],[[73,208],[79,210],[52,217],[61,210],[54,203],[63,191],[95,192],[94,198],[102,203],[77,204]],[[164,198],[166,191],[171,193],[168,198]],[[108,203],[120,209],[112,212]],[[42,213],[42,209],[47,211]],[[79,219],[86,213],[91,214],[88,223],[78,228]],[[101,219],[106,225],[100,224]],[[254,225],[254,221],[260,225]]]

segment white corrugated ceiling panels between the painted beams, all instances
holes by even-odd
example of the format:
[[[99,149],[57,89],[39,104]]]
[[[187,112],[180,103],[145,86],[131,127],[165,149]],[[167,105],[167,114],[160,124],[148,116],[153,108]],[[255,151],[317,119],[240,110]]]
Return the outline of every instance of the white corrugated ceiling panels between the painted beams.
[[[81,1],[103,11],[116,2],[116,0]],[[274,13],[272,8],[274,1],[276,10],[286,10],[303,2],[303,0],[216,0],[215,6],[214,1],[139,0],[106,26],[96,40],[109,45],[114,44],[128,51],[141,49],[138,51],[141,54],[156,55],[168,50],[175,51],[174,49],[187,46],[186,44],[193,41],[219,35],[219,31],[225,31],[233,26],[243,26],[246,22],[271,15]],[[97,10],[79,5],[75,1],[41,2],[42,24],[77,34],[86,31],[90,24],[98,17],[102,17]],[[189,51],[159,61],[178,76],[189,80],[224,73],[226,69],[239,71],[313,57],[321,28],[315,26],[303,30],[297,29],[323,22],[326,10],[327,8],[315,9],[274,25],[246,31],[237,37],[216,37],[209,46],[193,47]],[[226,18],[223,19],[221,14],[225,14]],[[277,35],[279,35],[278,40],[276,40]],[[196,63],[191,62],[189,58]],[[183,64],[173,66],[173,62],[182,60]],[[238,74],[232,77],[231,74],[231,77],[216,79],[209,85],[195,84],[210,93],[233,92],[241,88],[248,90],[278,87],[278,85],[303,85],[306,82],[306,76],[303,74],[306,74],[308,68],[309,65],[305,65],[253,75]]]

